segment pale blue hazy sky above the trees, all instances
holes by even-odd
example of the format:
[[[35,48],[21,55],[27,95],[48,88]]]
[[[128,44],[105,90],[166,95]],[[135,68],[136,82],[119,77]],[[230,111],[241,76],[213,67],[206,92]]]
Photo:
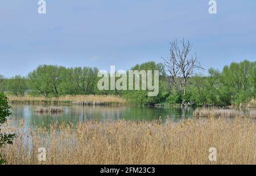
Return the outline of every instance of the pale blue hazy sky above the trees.
[[[209,14],[208,0],[46,0],[38,14],[38,0],[1,0],[0,74],[44,64],[128,70],[163,62],[183,38],[205,70],[256,61],[256,1],[216,1]]]

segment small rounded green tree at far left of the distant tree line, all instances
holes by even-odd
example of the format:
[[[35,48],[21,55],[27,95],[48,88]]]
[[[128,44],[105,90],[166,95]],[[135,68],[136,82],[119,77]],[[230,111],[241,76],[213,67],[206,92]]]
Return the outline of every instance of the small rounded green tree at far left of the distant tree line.
[[[24,96],[24,93],[27,91],[27,80],[18,75],[13,78],[6,80],[6,87],[9,93],[15,96]]]

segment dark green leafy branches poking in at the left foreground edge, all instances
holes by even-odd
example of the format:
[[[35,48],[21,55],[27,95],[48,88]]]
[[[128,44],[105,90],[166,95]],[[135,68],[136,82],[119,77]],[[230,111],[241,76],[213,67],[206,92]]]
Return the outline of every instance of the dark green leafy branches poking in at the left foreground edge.
[[[0,127],[2,123],[7,121],[6,117],[11,115],[10,112],[11,106],[8,105],[7,97],[0,92]],[[1,131],[1,128],[0,128]],[[5,144],[13,144],[13,139],[15,138],[15,134],[2,134],[0,133],[0,148]],[[5,164],[5,160],[2,158],[0,153],[0,164]]]

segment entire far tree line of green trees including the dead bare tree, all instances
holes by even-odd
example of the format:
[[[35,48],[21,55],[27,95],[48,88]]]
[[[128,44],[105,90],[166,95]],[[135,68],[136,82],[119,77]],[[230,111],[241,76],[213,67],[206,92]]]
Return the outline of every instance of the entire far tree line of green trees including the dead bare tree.
[[[159,94],[148,97],[146,91],[99,91],[98,68],[40,65],[26,77],[5,79],[0,75],[0,89],[15,96],[116,95],[137,105],[189,104],[195,106],[240,105],[255,99],[256,62],[230,63],[222,71],[210,68],[207,75],[189,41],[170,42],[170,53],[163,63],[146,62],[130,70],[159,70]],[[113,75],[110,75],[113,76]],[[117,79],[115,79],[117,80]]]

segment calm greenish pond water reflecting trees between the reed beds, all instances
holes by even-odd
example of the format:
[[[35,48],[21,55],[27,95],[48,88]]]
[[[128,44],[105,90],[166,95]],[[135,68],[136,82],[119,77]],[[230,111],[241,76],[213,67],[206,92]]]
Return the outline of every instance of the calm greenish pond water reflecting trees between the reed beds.
[[[98,121],[115,121],[125,119],[130,121],[152,121],[161,117],[163,120],[170,117],[177,122],[184,118],[192,117],[192,108],[148,108],[148,107],[103,107],[103,106],[57,106],[64,109],[63,113],[34,113],[38,105],[11,105],[12,117],[24,119],[26,127],[48,126],[49,123],[66,122],[74,123],[98,119]],[[40,106],[45,108],[56,106]]]

